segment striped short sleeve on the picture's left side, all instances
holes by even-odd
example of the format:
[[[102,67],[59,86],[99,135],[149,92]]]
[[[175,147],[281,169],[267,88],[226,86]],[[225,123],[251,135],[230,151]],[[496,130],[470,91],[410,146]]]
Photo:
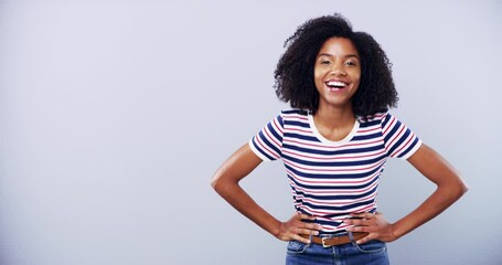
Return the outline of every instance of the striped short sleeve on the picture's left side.
[[[264,161],[277,160],[282,149],[282,117],[278,115],[249,140],[249,147]]]

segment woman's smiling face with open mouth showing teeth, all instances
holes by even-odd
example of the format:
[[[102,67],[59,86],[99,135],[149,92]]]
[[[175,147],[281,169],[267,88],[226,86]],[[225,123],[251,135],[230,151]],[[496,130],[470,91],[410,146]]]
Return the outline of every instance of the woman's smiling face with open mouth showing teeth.
[[[361,61],[351,40],[330,38],[319,50],[313,68],[319,107],[350,108],[361,81]]]

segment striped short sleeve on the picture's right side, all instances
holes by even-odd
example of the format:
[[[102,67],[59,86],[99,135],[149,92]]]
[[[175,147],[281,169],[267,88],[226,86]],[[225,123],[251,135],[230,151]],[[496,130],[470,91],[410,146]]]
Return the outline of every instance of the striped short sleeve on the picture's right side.
[[[382,119],[385,150],[393,158],[408,159],[421,146],[421,140],[396,117],[386,113]]]

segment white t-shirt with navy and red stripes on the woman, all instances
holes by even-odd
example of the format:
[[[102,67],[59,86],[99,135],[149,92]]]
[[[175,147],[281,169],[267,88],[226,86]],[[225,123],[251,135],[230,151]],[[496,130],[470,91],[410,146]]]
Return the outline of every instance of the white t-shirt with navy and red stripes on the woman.
[[[327,233],[344,230],[350,213],[376,211],[387,158],[407,159],[420,145],[389,113],[357,118],[344,139],[331,141],[300,109],[281,112],[249,140],[264,161],[282,159],[297,212],[317,216]]]

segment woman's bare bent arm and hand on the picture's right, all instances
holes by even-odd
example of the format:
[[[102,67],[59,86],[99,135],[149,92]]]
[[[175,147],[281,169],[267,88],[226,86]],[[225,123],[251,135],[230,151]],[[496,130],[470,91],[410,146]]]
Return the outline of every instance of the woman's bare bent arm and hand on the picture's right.
[[[457,171],[439,153],[425,144],[408,158],[408,162],[437,186],[436,191],[415,211],[394,224],[387,223],[381,213],[355,214],[363,220],[346,221],[346,223],[361,226],[350,230],[370,232],[366,237],[357,241],[357,244],[370,240],[395,241],[437,216],[468,190]]]

